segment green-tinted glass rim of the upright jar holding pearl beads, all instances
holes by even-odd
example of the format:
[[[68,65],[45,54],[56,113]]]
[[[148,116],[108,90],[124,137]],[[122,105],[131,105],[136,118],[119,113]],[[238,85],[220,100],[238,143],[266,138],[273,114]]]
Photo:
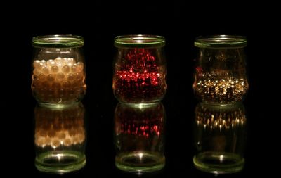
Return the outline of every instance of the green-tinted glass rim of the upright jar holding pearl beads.
[[[76,48],[84,46],[84,38],[71,34],[38,36],[32,38],[32,46],[38,48]]]

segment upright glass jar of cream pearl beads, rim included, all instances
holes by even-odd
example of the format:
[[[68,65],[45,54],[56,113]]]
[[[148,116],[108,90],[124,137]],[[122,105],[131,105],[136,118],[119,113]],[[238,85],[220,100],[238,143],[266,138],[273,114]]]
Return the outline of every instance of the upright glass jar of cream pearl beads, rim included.
[[[64,106],[86,93],[83,37],[33,37],[32,92],[40,104]]]

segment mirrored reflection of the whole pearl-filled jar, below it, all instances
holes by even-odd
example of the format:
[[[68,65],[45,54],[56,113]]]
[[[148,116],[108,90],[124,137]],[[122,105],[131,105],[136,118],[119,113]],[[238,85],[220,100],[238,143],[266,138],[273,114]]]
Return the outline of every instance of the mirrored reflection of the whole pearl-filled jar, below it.
[[[41,172],[65,173],[86,164],[84,106],[34,109],[35,166]]]

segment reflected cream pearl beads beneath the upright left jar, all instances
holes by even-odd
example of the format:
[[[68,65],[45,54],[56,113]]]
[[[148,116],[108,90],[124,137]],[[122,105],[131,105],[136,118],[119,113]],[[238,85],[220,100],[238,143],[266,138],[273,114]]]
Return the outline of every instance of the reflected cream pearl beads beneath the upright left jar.
[[[84,108],[35,108],[35,144],[39,147],[72,146],[85,140]]]

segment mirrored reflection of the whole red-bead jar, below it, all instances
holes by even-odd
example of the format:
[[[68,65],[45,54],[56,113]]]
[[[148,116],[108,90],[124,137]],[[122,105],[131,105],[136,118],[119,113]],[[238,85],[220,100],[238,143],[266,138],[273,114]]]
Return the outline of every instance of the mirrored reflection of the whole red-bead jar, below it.
[[[126,172],[155,172],[165,165],[162,103],[115,108],[115,165]]]

